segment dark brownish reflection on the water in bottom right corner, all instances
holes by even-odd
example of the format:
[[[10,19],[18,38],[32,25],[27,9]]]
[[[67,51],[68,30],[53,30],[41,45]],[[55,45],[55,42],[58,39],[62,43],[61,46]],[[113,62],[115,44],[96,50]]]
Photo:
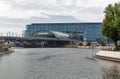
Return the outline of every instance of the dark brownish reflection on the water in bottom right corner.
[[[102,69],[103,79],[120,79],[120,70],[117,66]]]

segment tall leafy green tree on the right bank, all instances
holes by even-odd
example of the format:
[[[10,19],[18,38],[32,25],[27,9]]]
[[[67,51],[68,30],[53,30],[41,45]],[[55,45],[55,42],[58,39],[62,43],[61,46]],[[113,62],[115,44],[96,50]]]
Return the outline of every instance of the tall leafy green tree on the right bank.
[[[120,40],[120,3],[109,4],[104,13],[102,34],[110,38],[114,42],[116,49],[118,49],[117,41]]]

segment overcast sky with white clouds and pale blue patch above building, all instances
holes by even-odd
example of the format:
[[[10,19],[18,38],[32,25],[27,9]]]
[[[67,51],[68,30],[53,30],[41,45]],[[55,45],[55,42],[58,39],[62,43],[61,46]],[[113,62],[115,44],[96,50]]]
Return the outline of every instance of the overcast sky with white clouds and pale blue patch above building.
[[[102,22],[104,8],[119,0],[0,0],[0,33],[21,33],[27,24]]]

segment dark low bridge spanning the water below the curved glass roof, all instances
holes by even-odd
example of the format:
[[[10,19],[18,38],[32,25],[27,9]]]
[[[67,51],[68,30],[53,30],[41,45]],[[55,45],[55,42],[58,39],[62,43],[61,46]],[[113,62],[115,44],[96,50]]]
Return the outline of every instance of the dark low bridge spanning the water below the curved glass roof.
[[[69,38],[43,38],[43,37],[13,37],[0,36],[5,42],[14,43],[17,47],[63,47],[71,40]]]

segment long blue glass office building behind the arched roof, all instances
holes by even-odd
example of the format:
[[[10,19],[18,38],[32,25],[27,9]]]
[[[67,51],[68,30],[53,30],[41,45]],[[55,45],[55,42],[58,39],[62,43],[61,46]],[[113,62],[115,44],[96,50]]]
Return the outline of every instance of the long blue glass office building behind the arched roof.
[[[68,33],[70,38],[81,41],[99,41],[102,38],[101,23],[32,23],[26,26],[26,36],[39,31]]]

